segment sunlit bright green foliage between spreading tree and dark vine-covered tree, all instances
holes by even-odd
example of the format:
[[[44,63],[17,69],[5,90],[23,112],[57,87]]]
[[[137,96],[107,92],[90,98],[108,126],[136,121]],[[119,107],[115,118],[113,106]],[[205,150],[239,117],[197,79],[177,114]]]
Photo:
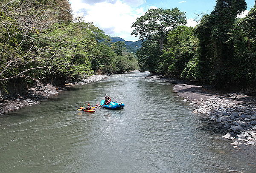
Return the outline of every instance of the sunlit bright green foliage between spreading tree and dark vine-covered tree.
[[[169,31],[167,40],[160,57],[158,73],[180,76],[187,63],[195,56],[198,40],[193,35],[193,28],[186,26],[178,26],[177,29]]]

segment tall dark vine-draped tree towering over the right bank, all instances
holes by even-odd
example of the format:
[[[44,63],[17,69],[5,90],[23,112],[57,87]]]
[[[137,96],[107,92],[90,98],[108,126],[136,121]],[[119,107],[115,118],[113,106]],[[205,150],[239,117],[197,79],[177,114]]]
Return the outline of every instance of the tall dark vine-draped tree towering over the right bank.
[[[230,33],[237,14],[245,9],[244,0],[217,0],[211,14],[204,16],[195,27],[195,34],[199,39],[202,74],[219,87],[227,86],[232,78],[235,49]]]

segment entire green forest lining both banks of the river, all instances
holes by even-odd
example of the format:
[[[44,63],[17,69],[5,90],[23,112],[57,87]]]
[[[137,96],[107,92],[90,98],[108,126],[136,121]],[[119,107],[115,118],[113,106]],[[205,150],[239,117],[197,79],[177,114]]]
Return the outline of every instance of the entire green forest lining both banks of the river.
[[[63,84],[137,69],[218,88],[256,86],[256,8],[237,18],[247,9],[244,0],[217,0],[195,28],[177,8],[149,9],[132,25],[131,35],[143,41],[136,54],[74,18],[68,0],[2,0],[0,6],[2,93],[16,84]]]

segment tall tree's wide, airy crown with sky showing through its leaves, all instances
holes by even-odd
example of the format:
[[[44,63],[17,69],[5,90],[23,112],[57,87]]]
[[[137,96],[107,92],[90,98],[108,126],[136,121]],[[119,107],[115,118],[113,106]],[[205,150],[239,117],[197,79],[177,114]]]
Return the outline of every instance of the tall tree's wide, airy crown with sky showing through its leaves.
[[[140,39],[149,39],[152,35],[160,44],[160,51],[163,50],[163,42],[166,34],[179,25],[185,25],[185,12],[179,9],[149,9],[148,12],[137,18],[133,23],[134,27],[131,35],[138,36]]]

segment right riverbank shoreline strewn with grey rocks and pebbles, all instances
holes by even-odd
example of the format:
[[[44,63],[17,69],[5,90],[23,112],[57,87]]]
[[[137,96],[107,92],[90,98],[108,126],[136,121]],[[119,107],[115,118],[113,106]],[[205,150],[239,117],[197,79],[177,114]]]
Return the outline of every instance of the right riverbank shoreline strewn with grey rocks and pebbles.
[[[192,113],[206,116],[209,121],[221,124],[227,134],[220,136],[239,145],[256,145],[256,98],[241,92],[223,92],[202,85],[172,78],[161,78],[175,84],[174,91],[194,107]]]

